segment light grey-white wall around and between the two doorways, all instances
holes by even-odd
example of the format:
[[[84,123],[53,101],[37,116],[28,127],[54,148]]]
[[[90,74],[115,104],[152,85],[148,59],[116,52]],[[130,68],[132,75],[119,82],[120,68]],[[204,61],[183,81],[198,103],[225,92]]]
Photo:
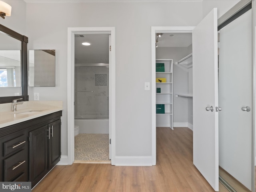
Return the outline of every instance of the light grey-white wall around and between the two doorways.
[[[116,155],[151,156],[151,26],[194,26],[201,2],[27,3],[29,49],[56,49],[56,87],[29,88],[40,100],[63,100],[62,155],[67,154],[67,28],[116,28]],[[68,93],[69,94],[69,93]],[[32,99],[30,97],[30,99]]]

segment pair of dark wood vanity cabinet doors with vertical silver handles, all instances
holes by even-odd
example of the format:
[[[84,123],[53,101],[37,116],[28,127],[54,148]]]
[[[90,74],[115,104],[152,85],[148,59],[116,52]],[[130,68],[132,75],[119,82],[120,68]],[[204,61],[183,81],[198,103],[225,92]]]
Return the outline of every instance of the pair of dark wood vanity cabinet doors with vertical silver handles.
[[[60,120],[30,132],[30,181],[35,186],[60,161]]]

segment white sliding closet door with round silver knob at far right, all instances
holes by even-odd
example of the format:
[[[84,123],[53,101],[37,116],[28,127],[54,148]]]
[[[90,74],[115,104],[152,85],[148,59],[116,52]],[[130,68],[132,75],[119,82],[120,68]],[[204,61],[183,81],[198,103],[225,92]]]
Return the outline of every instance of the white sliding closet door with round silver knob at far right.
[[[227,172],[251,191],[252,10],[222,28],[219,35],[220,176]]]

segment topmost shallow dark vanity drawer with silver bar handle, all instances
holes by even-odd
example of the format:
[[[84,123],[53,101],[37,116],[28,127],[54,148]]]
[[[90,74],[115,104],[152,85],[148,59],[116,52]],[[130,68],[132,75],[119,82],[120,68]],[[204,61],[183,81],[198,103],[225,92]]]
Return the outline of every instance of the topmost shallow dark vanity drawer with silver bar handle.
[[[26,136],[21,135],[12,140],[4,142],[4,156],[19,150],[26,145]]]

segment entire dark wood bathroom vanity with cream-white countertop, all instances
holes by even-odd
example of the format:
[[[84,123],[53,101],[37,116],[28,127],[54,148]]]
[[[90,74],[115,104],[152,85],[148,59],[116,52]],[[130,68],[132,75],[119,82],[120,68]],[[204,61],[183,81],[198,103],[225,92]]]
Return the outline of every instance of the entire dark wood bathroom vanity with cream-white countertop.
[[[0,104],[0,181],[31,181],[34,187],[60,161],[62,102],[7,108]]]

